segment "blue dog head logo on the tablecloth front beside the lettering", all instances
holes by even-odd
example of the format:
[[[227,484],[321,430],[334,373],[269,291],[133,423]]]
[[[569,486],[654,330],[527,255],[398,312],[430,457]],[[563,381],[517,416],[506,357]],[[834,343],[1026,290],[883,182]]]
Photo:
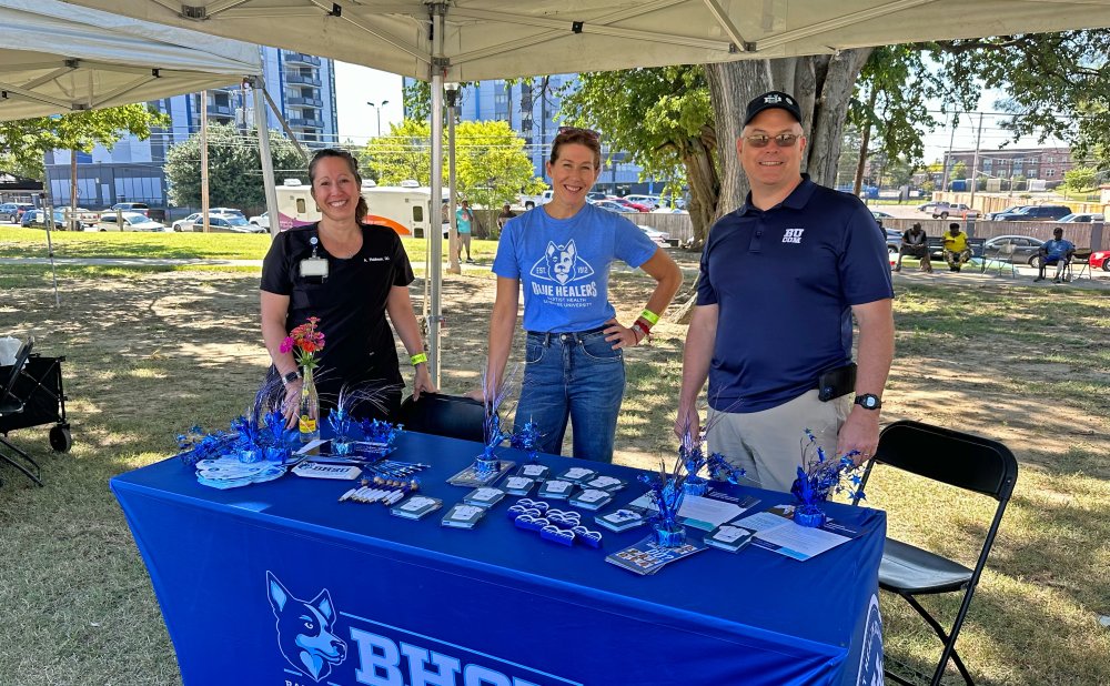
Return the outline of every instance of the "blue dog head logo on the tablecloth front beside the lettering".
[[[289,664],[319,682],[332,673],[332,666],[346,659],[346,644],[332,633],[335,606],[324,588],[311,601],[302,601],[266,572],[270,606],[278,617],[278,647]]]

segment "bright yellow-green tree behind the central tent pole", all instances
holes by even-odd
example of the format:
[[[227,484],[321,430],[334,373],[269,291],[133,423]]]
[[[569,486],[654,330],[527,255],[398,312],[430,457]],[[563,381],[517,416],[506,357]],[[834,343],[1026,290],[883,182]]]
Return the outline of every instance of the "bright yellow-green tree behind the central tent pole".
[[[432,179],[431,140],[426,121],[406,119],[392,124],[387,137],[371,139],[359,153],[360,163],[385,185],[408,179],[427,185]],[[524,139],[507,122],[460,123],[455,127],[455,154],[457,189],[472,202],[487,208],[512,204],[518,193],[538,193],[545,188],[543,180],[535,176]],[[447,183],[446,164],[443,183]]]

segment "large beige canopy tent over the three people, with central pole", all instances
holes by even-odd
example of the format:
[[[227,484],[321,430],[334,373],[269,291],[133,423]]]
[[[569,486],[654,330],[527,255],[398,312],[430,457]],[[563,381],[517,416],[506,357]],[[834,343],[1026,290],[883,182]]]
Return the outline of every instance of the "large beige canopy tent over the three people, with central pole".
[[[1110,26],[1110,0],[72,0],[432,82],[829,53]],[[432,117],[432,169],[442,169]],[[432,174],[432,198],[441,176]],[[430,254],[441,253],[430,232]],[[428,262],[438,382],[442,260]]]

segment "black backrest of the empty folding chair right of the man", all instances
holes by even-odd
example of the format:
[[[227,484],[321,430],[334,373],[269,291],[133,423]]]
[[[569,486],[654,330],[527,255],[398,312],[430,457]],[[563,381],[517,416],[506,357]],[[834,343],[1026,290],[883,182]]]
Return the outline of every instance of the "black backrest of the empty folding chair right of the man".
[[[876,462],[1001,502],[1018,480],[1018,461],[1001,443],[908,420],[882,430],[865,483]]]

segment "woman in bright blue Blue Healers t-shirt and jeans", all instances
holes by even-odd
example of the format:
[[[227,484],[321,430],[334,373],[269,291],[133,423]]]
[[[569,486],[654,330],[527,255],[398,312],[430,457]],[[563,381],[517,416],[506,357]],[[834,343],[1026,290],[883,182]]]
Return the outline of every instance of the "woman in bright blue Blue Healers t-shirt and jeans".
[[[486,381],[496,389],[505,373],[523,285],[527,345],[516,427],[535,422],[543,436],[539,450],[558,454],[569,420],[573,455],[610,462],[624,395],[622,350],[648,336],[683,278],[636,224],[586,202],[601,165],[597,132],[559,129],[547,162],[551,201],[505,223],[493,264],[497,299]],[[614,260],[656,281],[647,307],[630,326],[617,321],[608,301]]]

